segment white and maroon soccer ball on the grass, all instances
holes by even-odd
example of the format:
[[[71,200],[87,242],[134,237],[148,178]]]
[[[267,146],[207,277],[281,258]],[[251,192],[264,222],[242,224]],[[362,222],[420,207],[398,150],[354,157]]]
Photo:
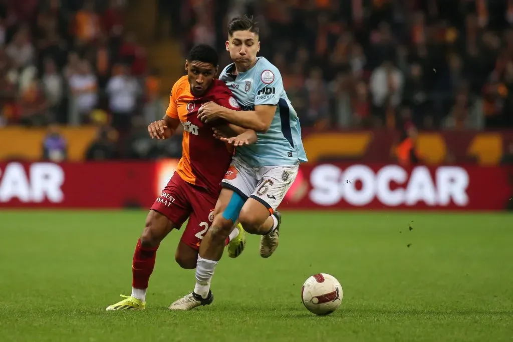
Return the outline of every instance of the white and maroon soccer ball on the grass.
[[[308,311],[316,315],[329,315],[342,303],[342,286],[332,275],[314,274],[301,288],[301,299]]]

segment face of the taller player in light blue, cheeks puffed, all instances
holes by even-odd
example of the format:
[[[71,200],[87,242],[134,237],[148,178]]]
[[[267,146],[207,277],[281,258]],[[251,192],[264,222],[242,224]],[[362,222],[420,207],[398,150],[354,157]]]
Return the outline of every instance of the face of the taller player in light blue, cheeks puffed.
[[[258,38],[258,35],[250,31],[235,31],[228,37],[226,51],[230,52],[230,57],[238,69],[248,69],[254,64],[260,50]]]

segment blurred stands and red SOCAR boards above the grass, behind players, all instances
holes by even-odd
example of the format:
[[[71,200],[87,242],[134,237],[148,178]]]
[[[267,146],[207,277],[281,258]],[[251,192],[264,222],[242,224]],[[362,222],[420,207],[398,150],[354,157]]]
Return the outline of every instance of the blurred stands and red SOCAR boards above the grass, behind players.
[[[156,142],[146,126],[192,45],[228,63],[243,13],[310,161],[284,208],[511,207],[513,5],[494,0],[3,1],[0,206],[147,208],[181,132]]]

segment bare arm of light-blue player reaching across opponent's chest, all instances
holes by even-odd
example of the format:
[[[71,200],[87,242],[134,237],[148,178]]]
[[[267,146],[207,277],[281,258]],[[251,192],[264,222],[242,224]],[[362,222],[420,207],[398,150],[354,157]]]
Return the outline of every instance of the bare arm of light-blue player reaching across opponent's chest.
[[[198,118],[204,123],[215,119],[225,119],[231,124],[265,133],[271,126],[276,105],[258,105],[255,110],[238,111],[208,102],[198,111]]]

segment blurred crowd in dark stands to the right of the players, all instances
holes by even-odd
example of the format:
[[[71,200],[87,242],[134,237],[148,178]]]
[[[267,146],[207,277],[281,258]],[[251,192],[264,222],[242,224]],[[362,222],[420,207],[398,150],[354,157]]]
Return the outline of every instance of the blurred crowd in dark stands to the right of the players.
[[[253,15],[303,127],[513,126],[513,1],[191,1],[191,44],[224,51],[226,22]],[[212,17],[211,13],[225,13]],[[216,21],[213,19],[217,18]],[[227,59],[224,63],[228,63]]]

